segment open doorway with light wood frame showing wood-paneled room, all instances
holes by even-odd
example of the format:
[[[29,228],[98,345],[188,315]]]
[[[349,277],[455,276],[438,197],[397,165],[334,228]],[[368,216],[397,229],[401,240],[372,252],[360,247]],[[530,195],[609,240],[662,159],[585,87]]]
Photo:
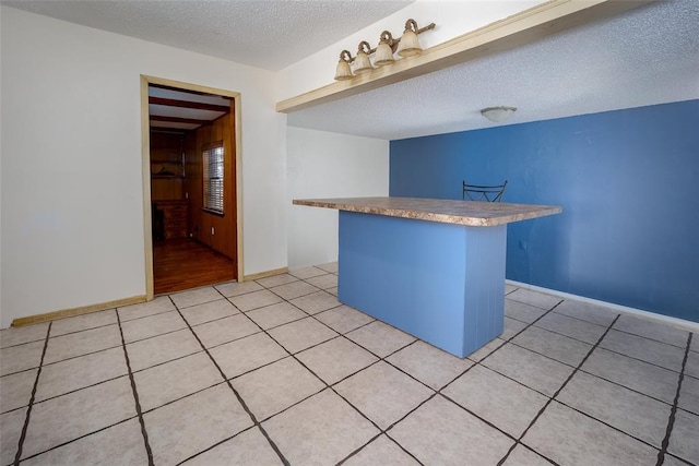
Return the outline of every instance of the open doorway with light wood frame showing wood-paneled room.
[[[146,295],[240,280],[239,94],[142,76]]]

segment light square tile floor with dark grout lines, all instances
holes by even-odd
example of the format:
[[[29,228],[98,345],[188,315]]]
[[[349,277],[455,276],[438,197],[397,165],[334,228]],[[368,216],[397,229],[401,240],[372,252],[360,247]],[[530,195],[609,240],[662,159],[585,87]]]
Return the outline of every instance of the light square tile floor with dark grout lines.
[[[336,264],[0,332],[1,465],[699,464],[699,342],[506,286],[460,359]]]

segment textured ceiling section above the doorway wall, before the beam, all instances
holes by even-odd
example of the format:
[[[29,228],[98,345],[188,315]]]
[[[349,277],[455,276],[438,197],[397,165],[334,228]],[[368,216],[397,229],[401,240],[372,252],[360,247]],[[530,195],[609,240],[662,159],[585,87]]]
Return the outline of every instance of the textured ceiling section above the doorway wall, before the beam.
[[[414,0],[23,0],[3,4],[268,70],[281,70]]]

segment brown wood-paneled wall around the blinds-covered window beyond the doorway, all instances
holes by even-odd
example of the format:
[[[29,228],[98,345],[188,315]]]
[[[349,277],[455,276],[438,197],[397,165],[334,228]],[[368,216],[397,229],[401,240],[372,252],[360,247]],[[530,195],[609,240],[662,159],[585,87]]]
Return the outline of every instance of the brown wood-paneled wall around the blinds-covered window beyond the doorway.
[[[232,100],[233,106],[233,100]],[[185,190],[189,201],[189,232],[193,238],[233,259],[236,258],[236,174],[233,112],[202,127],[185,138]],[[224,215],[202,210],[202,147],[223,141],[224,146]],[[237,265],[236,265],[237,270]]]

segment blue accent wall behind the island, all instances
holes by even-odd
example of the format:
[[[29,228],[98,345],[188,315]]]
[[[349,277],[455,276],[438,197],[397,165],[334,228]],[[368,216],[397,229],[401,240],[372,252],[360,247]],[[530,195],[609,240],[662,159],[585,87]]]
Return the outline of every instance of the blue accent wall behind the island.
[[[508,225],[507,277],[699,322],[699,100],[391,142],[393,196],[564,213]]]

